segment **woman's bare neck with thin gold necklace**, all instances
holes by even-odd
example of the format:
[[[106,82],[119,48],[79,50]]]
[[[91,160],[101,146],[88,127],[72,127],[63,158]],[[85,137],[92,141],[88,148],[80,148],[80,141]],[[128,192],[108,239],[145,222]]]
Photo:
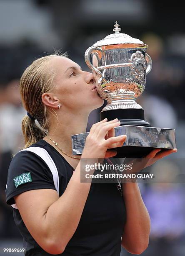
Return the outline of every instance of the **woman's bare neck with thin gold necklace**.
[[[71,135],[85,133],[89,114],[69,113],[58,116],[58,124],[56,118],[52,120],[48,136],[55,141],[62,150],[69,155],[72,154]],[[46,137],[47,138],[47,137]]]

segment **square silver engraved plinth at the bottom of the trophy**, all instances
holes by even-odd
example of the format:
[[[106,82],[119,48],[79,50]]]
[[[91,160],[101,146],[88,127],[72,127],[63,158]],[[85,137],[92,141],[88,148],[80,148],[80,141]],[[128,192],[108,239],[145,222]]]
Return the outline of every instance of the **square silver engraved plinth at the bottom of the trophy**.
[[[148,155],[155,148],[161,148],[162,151],[176,148],[174,129],[136,125],[122,125],[114,129],[115,136],[124,134],[127,136],[122,147],[114,148],[117,151],[115,157],[118,158],[141,158]],[[82,154],[88,134],[72,135],[73,155]]]

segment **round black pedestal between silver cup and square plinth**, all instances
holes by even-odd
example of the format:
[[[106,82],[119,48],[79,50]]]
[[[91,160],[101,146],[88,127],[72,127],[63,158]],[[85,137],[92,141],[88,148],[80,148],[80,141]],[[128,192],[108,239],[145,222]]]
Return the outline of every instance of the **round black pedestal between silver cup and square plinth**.
[[[123,108],[100,112],[100,120],[105,118],[108,121],[118,118],[120,125],[150,126],[150,123],[145,121],[143,108]]]

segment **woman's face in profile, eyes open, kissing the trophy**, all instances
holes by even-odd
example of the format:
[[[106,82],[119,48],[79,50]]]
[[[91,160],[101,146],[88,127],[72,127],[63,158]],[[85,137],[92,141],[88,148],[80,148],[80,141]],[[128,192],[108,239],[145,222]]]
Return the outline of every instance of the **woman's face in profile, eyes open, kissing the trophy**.
[[[77,63],[61,56],[52,59],[52,67],[56,71],[54,93],[62,106],[90,112],[103,105],[103,99],[97,95],[92,73],[82,71]]]

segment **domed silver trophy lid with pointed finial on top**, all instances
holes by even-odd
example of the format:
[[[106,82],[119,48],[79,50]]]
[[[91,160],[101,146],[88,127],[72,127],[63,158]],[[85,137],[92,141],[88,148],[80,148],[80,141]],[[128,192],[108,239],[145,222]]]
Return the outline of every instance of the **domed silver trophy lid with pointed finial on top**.
[[[119,28],[119,24],[117,24],[117,21],[115,22],[115,28],[113,28],[113,31],[115,31],[114,34],[110,34],[103,38],[100,41],[97,41],[93,46],[99,47],[99,46],[105,46],[105,45],[112,45],[112,44],[133,44],[137,46],[141,46],[144,48],[148,48],[147,44],[144,44],[142,41],[140,41],[137,38],[133,38],[127,34],[120,33],[121,28]]]

